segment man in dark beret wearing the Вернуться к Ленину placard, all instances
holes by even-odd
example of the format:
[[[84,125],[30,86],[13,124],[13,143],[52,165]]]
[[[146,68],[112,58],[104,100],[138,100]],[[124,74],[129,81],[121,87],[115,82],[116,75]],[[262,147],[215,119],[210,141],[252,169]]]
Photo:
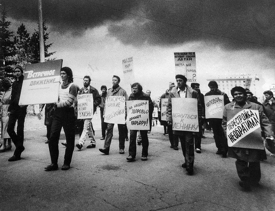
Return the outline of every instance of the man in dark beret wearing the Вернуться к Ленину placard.
[[[177,86],[172,88],[168,96],[168,104],[166,109],[166,121],[168,125],[172,125],[172,98],[196,98],[198,102],[198,117],[201,121],[202,117],[202,105],[199,101],[199,94],[191,87],[186,85],[187,78],[183,75],[176,75]],[[185,105],[182,105],[185,106]],[[186,168],[189,175],[193,174],[194,165],[194,138],[190,131],[179,131],[173,130],[173,133],[178,135],[180,138],[181,149],[183,151],[183,156],[185,162],[182,167]]]

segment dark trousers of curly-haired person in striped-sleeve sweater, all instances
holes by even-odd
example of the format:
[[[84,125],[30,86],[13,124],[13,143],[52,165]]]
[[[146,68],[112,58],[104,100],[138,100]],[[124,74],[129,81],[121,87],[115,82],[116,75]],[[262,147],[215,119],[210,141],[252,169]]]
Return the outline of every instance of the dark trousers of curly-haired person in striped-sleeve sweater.
[[[53,116],[53,123],[50,130],[49,151],[51,162],[57,164],[58,161],[58,142],[60,132],[63,127],[66,136],[66,150],[64,164],[70,165],[73,156],[75,142],[75,117],[73,108],[57,108]]]

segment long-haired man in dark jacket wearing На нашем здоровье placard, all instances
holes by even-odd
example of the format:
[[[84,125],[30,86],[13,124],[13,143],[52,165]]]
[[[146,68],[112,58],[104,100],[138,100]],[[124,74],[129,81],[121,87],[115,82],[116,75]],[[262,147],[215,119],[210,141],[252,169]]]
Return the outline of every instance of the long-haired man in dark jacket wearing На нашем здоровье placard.
[[[149,119],[152,118],[153,110],[154,110],[154,104],[150,98],[149,95],[145,94],[142,91],[142,86],[139,83],[134,83],[131,85],[133,93],[129,96],[129,101],[134,100],[146,100],[149,101]],[[136,145],[136,139],[137,139],[137,131],[138,130],[130,130],[130,144],[129,144],[129,156],[126,158],[128,161],[134,161],[136,159],[137,154],[137,145]],[[141,133],[141,143],[142,143],[142,155],[141,160],[146,161],[148,156],[148,136],[147,136],[147,130],[140,130]]]

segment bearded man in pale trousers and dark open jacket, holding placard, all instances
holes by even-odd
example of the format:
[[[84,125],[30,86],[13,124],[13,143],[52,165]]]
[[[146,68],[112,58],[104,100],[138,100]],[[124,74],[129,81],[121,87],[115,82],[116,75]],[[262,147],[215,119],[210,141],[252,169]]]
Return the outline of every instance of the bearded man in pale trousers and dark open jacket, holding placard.
[[[79,95],[82,94],[92,94],[92,102],[87,102],[87,104],[93,104],[93,114],[96,111],[96,107],[101,103],[101,97],[99,95],[99,92],[97,91],[96,88],[90,85],[91,83],[91,78],[89,75],[85,75],[83,78],[83,87],[79,90]],[[75,107],[76,110],[78,109],[77,107],[77,101],[75,102]],[[89,148],[95,148],[95,138],[92,130],[92,118],[85,118],[82,119],[82,125],[83,129],[82,132],[80,133],[80,138],[78,143],[76,144],[76,147],[81,150],[83,145],[85,144],[85,140],[89,139],[90,144],[86,147],[87,149]]]

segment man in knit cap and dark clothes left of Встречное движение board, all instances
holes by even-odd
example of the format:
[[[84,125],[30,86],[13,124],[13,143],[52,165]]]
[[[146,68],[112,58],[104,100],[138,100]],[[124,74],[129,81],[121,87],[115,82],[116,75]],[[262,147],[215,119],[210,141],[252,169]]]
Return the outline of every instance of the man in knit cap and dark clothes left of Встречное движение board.
[[[14,75],[16,77],[15,82],[12,84],[11,90],[11,104],[8,107],[9,119],[7,132],[11,137],[12,142],[15,145],[15,151],[8,161],[17,161],[21,159],[21,153],[24,151],[24,122],[27,113],[27,106],[18,105],[22,84],[24,80],[23,68],[21,66],[16,66],[14,69]],[[14,126],[17,120],[17,134],[14,131]]]

